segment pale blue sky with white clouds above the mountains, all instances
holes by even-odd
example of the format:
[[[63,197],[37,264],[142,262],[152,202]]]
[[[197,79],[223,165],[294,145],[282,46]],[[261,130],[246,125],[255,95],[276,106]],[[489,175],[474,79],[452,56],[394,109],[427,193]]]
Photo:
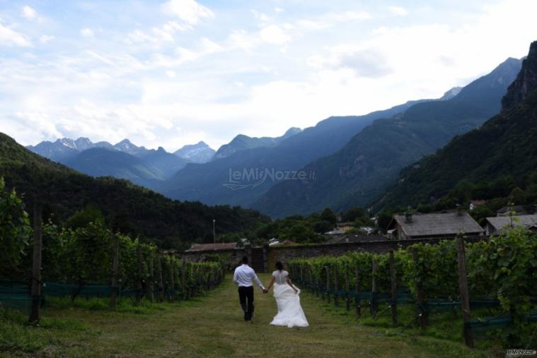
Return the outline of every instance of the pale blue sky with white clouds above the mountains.
[[[524,56],[535,0],[0,0],[0,131],[166,150],[440,97]]]

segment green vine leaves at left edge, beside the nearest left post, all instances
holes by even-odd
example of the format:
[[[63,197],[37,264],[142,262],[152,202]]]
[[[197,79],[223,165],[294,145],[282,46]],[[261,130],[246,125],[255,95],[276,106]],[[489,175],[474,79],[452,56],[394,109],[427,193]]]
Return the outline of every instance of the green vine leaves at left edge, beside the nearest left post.
[[[4,179],[0,177],[0,274],[16,267],[31,233],[21,198],[14,189],[6,191]]]

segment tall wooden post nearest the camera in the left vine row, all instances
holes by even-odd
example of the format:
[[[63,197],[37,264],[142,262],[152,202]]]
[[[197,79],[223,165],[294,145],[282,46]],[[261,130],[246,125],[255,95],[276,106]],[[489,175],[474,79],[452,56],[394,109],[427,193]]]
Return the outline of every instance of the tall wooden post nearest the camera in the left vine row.
[[[33,262],[32,262],[32,309],[30,323],[38,323],[41,318],[41,250],[42,250],[43,207],[35,201],[33,208]]]

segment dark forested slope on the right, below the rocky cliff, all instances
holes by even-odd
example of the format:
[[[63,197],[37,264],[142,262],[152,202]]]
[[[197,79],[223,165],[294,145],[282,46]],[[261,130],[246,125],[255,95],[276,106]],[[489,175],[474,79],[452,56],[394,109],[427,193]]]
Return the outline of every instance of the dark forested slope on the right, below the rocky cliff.
[[[474,199],[490,199],[507,198],[514,191],[517,204],[536,203],[537,196],[515,190],[517,186],[524,190],[536,183],[535,174],[529,175],[537,167],[536,107],[537,93],[533,93],[516,107],[492,117],[480,129],[454,138],[436,154],[406,167],[397,184],[375,207],[417,205],[445,196],[468,199],[469,192]],[[470,188],[468,182],[477,184]],[[467,185],[458,188],[458,183]],[[531,186],[533,193],[535,189]]]

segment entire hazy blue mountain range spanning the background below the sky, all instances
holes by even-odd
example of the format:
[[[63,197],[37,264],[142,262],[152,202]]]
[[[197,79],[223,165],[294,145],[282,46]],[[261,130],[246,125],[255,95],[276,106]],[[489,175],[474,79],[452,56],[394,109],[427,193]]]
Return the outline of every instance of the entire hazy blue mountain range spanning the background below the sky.
[[[535,76],[521,70],[521,63],[509,58],[436,100],[409,101],[363,116],[329,117],[276,138],[239,134],[216,152],[204,142],[167,153],[128,140],[112,145],[88,138],[62,138],[28,149],[93,177],[127,179],[168,198],[242,205],[272,217],[306,215],[325,207],[345,210],[382,198],[375,205],[379,208],[401,202],[394,199],[399,194],[391,194],[393,188],[382,196],[401,169],[411,165],[402,172],[408,175],[424,165],[416,162],[420,158],[480,128],[500,112],[502,97],[504,108],[519,101],[516,96],[531,82],[527,78]],[[526,82],[516,79],[521,71],[526,71]],[[513,81],[519,81],[520,90],[507,93]]]

